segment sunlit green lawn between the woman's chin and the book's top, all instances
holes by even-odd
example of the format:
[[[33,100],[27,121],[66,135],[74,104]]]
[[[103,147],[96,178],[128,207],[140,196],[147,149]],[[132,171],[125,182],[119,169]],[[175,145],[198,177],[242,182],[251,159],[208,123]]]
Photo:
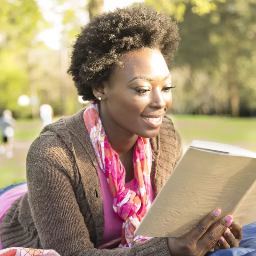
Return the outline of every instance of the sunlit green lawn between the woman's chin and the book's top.
[[[170,116],[186,145],[192,140],[227,143],[256,151],[256,118]]]

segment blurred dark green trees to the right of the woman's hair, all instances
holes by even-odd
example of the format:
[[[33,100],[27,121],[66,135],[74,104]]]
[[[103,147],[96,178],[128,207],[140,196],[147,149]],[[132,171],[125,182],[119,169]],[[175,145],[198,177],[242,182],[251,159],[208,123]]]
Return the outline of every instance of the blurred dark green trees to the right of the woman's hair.
[[[193,105],[194,113],[250,115],[256,101],[256,1],[227,0],[203,16],[195,15],[193,7],[186,4],[179,24],[176,66],[191,70],[182,104]]]

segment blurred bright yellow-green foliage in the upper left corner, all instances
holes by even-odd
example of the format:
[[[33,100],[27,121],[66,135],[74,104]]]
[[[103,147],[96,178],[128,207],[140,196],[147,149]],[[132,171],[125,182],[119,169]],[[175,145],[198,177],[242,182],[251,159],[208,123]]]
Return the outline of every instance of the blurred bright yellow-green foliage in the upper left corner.
[[[35,36],[45,22],[35,0],[0,0],[0,111],[17,104],[20,93],[30,94],[28,52],[36,46]]]

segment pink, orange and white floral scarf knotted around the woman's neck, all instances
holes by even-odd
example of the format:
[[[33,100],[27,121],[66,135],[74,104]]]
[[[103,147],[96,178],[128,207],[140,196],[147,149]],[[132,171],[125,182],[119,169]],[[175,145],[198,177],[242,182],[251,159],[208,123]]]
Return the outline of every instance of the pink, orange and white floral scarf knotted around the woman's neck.
[[[98,168],[105,173],[113,200],[116,218],[124,221],[122,241],[118,248],[132,247],[150,237],[135,236],[134,231],[146,213],[150,190],[152,164],[149,139],[139,137],[133,149],[133,167],[136,191],[126,189],[125,168],[118,154],[111,148],[99,117],[99,104],[93,102],[84,111],[84,123],[90,135]]]

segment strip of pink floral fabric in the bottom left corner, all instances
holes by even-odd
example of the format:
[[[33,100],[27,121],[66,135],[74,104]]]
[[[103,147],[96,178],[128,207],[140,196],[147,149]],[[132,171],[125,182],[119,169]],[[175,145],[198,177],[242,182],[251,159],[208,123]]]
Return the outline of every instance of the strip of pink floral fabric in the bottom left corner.
[[[21,248],[21,247],[13,247],[7,248],[4,250],[0,250],[0,256],[60,256],[54,250],[41,250],[41,249],[29,249],[29,248]]]

